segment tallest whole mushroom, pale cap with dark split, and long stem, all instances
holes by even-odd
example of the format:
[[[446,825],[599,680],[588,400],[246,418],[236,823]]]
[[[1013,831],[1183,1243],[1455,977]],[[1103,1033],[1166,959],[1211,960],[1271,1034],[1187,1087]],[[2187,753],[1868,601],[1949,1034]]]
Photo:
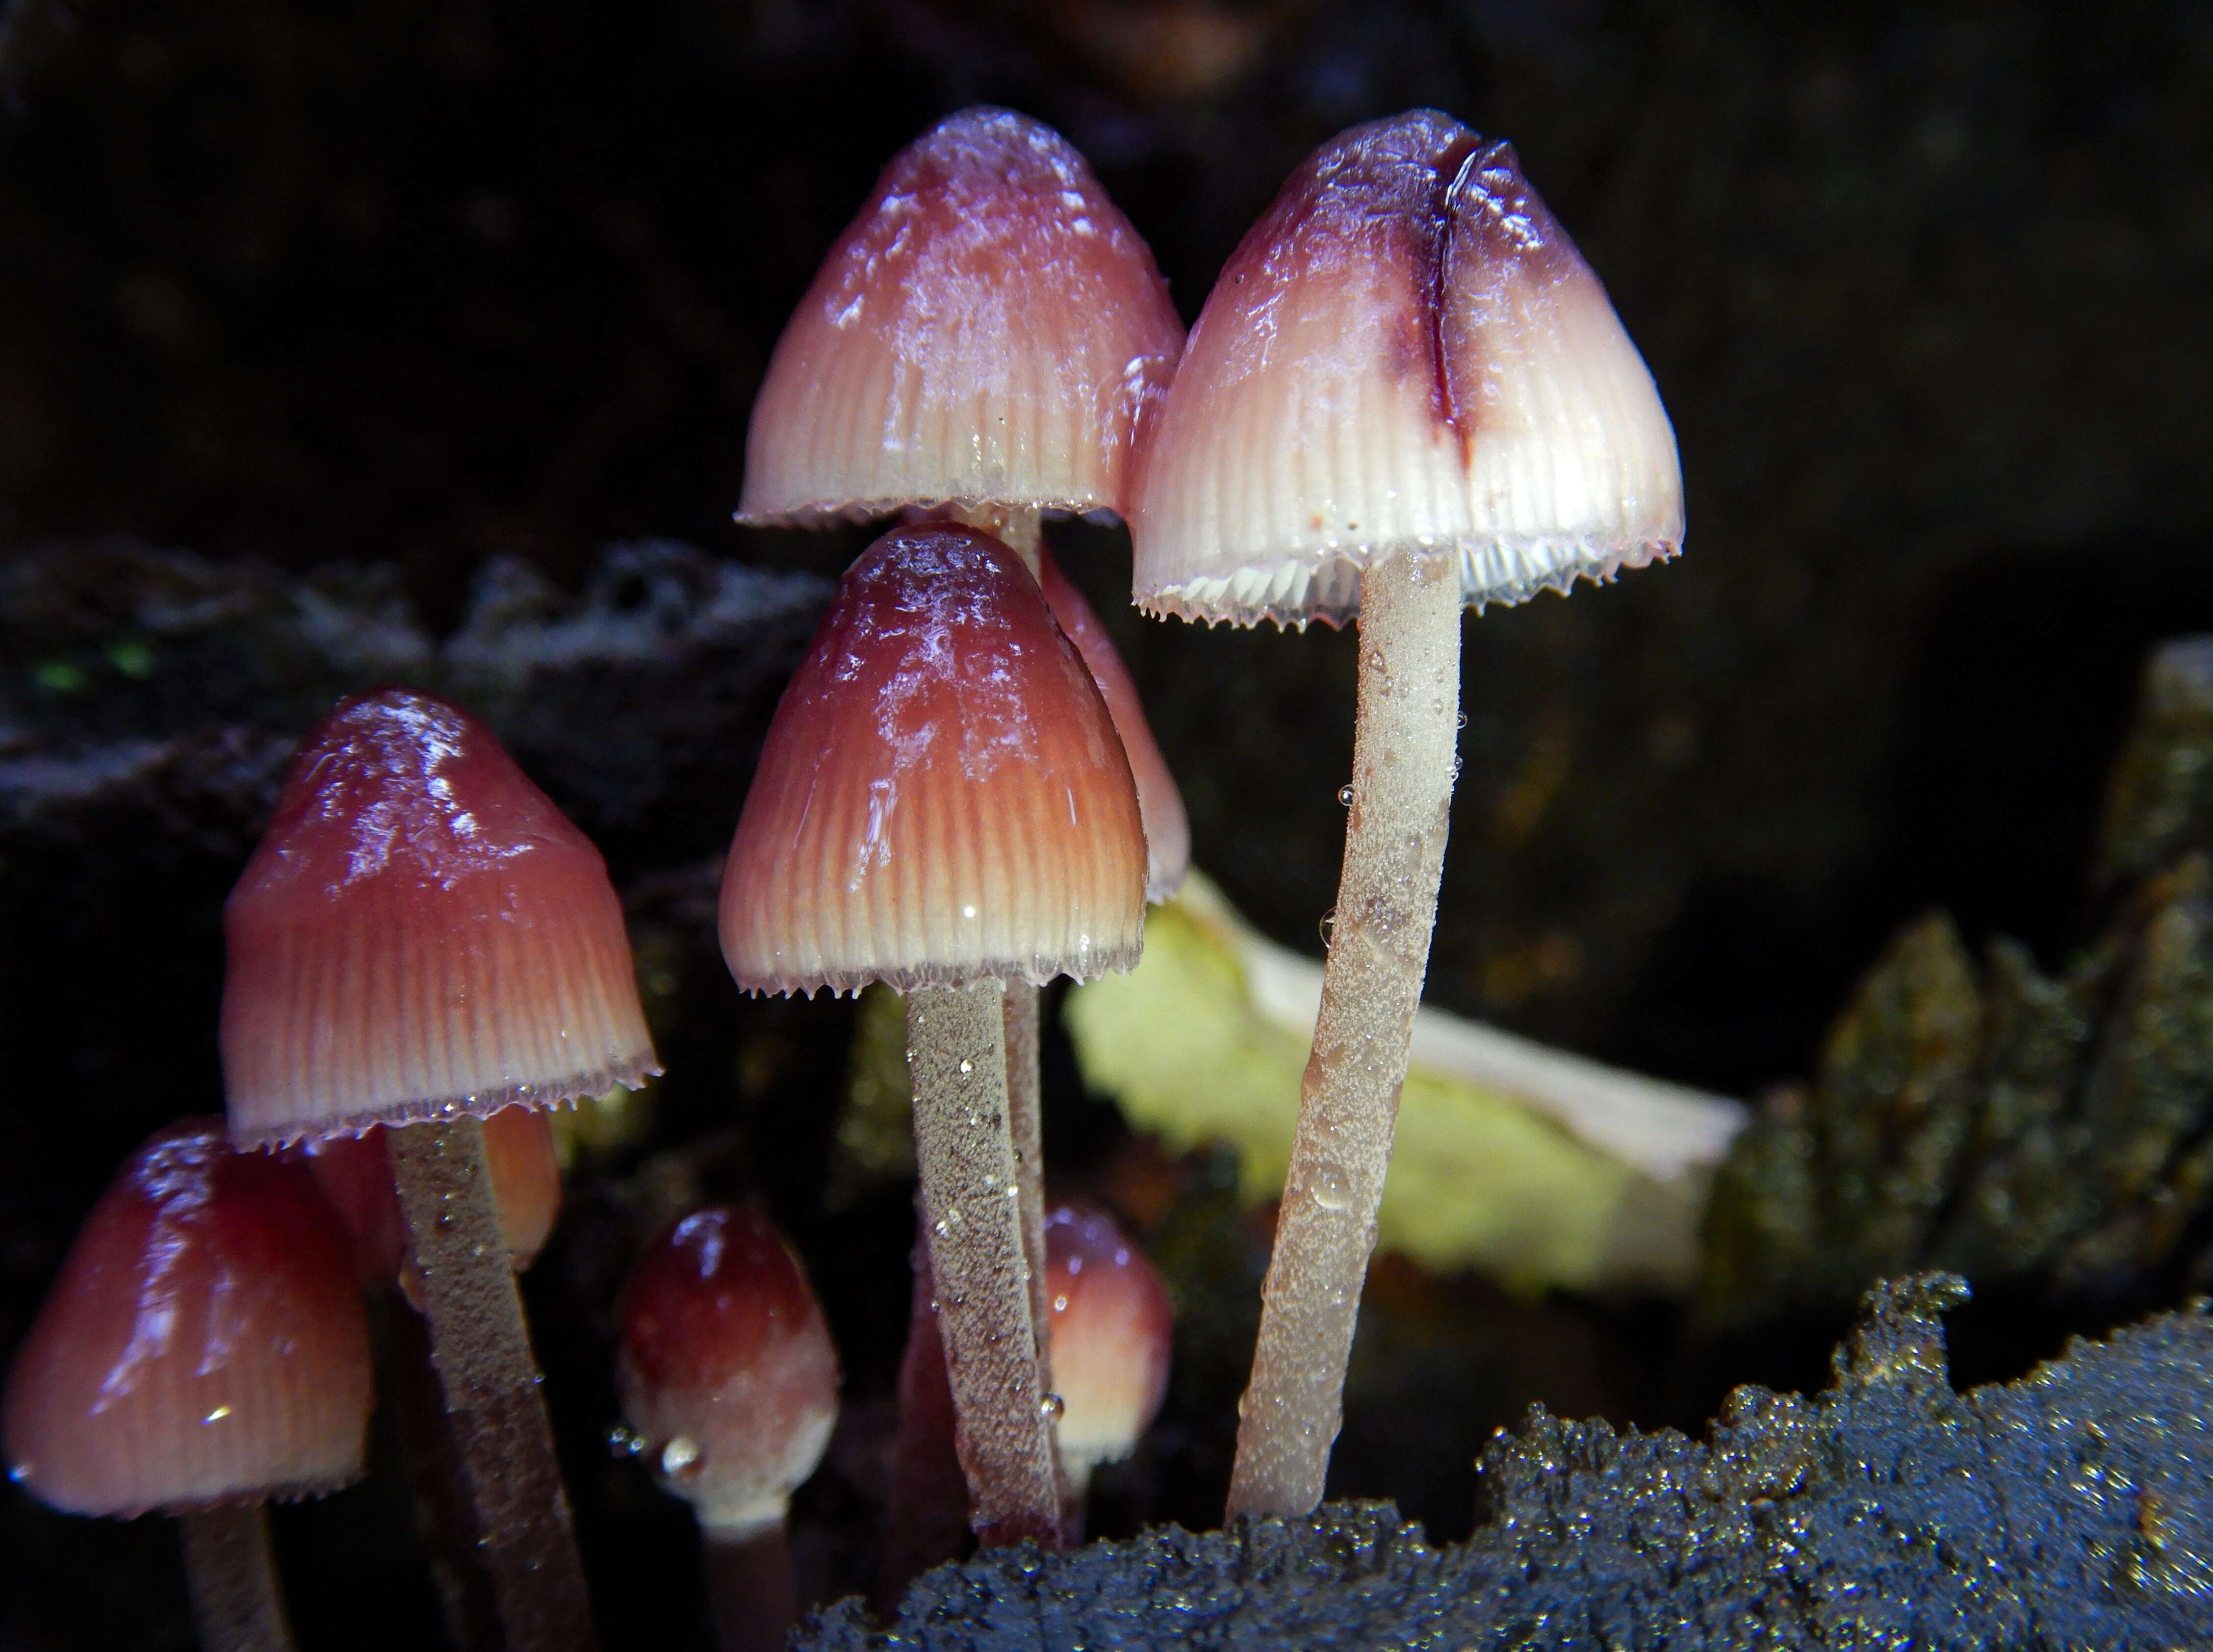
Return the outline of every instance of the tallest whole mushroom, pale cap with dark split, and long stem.
[[[1461,609],[1682,545],[1675,436],[1509,144],[1416,111],[1319,148],[1237,246],[1140,454],[1135,598],[1359,616],[1359,724],[1230,1512],[1321,1497],[1436,921]]]

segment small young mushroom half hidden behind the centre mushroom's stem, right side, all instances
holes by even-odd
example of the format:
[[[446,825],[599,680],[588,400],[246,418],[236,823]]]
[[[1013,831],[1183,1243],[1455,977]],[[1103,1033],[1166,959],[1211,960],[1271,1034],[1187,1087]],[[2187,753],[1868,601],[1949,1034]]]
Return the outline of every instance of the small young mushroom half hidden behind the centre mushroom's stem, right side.
[[[1056,1207],[1045,1218],[1045,1253],[1073,1530],[1082,1526],[1091,1470],[1129,1457],[1160,1415],[1175,1311],[1160,1273],[1102,1211]]]

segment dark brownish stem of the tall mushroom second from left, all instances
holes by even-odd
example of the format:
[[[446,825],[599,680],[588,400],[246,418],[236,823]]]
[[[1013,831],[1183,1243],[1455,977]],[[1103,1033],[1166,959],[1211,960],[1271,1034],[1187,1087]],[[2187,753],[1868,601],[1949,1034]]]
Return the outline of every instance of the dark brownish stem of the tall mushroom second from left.
[[[485,1127],[469,1116],[405,1125],[392,1132],[389,1149],[423,1273],[432,1364],[476,1501],[507,1648],[598,1648],[538,1360],[491,1198]]]

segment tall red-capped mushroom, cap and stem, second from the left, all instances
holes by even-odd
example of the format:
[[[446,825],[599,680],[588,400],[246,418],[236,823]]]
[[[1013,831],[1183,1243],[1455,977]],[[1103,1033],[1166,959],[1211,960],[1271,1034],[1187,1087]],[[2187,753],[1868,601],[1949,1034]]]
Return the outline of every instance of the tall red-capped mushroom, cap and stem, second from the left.
[[[385,689],[301,744],[224,928],[232,1140],[394,1127],[432,1360],[509,1648],[591,1645],[480,1121],[659,1070],[600,853],[482,724]]]

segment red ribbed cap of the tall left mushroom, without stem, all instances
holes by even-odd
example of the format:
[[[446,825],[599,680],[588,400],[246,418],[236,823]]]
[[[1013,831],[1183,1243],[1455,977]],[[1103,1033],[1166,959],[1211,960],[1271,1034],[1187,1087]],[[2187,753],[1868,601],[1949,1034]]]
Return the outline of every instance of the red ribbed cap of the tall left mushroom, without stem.
[[[659,1072],[600,850],[429,695],[361,695],[308,735],[224,932],[239,1143],[549,1107]]]

